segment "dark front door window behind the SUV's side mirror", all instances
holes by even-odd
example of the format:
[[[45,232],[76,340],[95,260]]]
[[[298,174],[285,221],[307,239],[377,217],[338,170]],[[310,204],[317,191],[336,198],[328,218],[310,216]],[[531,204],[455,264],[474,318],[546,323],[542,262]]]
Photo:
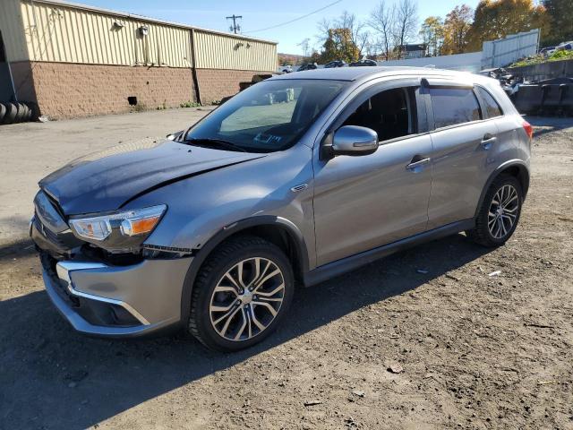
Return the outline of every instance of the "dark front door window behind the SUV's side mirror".
[[[383,142],[416,133],[414,112],[414,89],[386,90],[365,100],[343,125],[371,128]]]

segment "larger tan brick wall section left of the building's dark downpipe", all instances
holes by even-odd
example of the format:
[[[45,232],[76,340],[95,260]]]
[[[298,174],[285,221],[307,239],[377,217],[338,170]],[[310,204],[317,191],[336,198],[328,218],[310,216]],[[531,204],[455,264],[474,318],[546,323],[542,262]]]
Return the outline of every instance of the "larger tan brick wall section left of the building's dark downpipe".
[[[32,62],[42,115],[72,118],[177,107],[195,99],[190,69]],[[128,97],[137,97],[137,107]]]

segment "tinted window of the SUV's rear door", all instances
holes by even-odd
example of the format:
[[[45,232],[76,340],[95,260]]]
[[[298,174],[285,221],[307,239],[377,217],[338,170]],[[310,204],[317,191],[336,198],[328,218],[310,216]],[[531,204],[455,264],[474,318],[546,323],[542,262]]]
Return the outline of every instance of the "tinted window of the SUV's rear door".
[[[436,128],[482,119],[480,105],[473,90],[466,88],[431,88],[433,120]]]

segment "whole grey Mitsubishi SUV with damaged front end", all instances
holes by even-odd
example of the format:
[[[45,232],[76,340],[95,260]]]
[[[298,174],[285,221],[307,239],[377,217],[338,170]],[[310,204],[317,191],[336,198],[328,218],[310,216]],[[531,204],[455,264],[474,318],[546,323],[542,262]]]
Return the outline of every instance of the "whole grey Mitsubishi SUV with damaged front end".
[[[311,286],[406,246],[514,232],[532,127],[498,82],[349,67],[257,83],[165,142],[44,178],[30,235],[77,331],[232,351]]]

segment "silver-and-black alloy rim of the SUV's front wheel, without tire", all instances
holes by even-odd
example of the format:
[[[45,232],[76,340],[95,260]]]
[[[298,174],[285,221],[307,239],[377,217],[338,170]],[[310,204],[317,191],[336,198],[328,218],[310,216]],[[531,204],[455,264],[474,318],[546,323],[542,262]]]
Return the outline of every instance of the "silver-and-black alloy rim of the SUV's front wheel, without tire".
[[[210,298],[210,322],[226,340],[250,340],[272,323],[285,298],[285,278],[275,262],[252,257],[218,280]]]

